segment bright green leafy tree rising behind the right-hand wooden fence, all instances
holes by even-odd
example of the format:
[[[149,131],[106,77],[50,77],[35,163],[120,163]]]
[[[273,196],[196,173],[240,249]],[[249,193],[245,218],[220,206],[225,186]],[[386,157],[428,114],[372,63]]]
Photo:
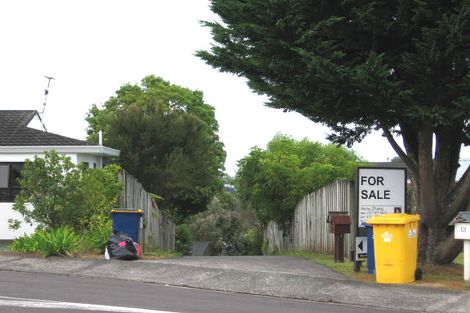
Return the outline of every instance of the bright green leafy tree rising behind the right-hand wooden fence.
[[[235,183],[260,222],[282,225],[290,223],[306,194],[335,179],[352,179],[358,161],[353,152],[332,144],[278,135],[266,150],[255,147],[240,160]]]

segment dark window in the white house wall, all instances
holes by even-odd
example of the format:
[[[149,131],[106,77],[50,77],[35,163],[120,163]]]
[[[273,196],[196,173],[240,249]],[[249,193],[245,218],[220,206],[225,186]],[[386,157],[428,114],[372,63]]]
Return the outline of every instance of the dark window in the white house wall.
[[[18,178],[24,163],[0,163],[0,202],[13,202],[20,192]]]

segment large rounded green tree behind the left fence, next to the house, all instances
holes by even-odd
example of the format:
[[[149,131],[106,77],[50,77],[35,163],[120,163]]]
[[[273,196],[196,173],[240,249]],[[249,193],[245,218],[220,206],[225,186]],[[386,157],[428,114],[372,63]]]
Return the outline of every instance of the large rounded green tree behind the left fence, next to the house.
[[[148,76],[122,86],[103,108],[93,106],[87,121],[89,140],[103,130],[104,143],[121,150],[123,168],[177,220],[203,210],[222,188],[225,151],[200,91]]]

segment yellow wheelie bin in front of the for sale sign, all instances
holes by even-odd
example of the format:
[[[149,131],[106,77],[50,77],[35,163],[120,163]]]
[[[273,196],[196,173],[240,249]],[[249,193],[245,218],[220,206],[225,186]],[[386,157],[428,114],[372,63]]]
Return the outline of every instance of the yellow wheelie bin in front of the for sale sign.
[[[367,221],[373,225],[375,273],[378,283],[415,281],[419,215],[384,214]]]

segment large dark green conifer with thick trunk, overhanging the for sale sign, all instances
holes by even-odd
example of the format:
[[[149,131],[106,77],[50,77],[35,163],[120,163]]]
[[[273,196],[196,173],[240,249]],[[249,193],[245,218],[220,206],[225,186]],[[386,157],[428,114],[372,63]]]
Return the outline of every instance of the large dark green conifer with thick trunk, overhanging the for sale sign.
[[[462,246],[448,223],[470,200],[469,171],[456,182],[470,143],[470,3],[211,3],[221,20],[206,22],[215,44],[198,55],[246,77],[269,106],[331,127],[336,143],[382,130],[412,175],[421,259],[450,262]]]

